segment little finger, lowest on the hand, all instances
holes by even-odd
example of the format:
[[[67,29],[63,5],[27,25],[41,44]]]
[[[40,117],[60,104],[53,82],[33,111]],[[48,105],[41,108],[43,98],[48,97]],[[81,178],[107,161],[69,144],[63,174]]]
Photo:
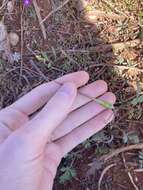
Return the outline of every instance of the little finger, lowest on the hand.
[[[112,121],[114,114],[112,110],[106,110],[100,113],[95,118],[74,129],[68,135],[57,140],[55,143],[61,148],[62,156],[65,156],[69,151],[75,148],[78,144],[91,137],[103,129],[108,123]]]

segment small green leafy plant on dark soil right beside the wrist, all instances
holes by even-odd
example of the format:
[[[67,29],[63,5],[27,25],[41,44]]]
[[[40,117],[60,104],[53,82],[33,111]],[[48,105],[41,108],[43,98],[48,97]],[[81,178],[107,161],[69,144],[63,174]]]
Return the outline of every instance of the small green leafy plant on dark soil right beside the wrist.
[[[68,167],[68,166],[67,167],[62,167],[60,169],[60,171],[62,172],[62,175],[59,178],[59,180],[60,180],[59,182],[61,184],[64,184],[67,181],[71,181],[73,178],[76,177],[76,171],[72,167]]]

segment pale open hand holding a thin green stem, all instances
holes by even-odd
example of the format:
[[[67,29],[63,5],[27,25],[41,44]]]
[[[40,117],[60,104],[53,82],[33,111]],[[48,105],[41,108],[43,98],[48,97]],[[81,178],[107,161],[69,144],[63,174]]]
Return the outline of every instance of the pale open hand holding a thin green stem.
[[[112,104],[115,95],[88,80],[84,71],[63,76],[0,111],[1,189],[52,190],[63,156],[111,122],[112,110],[81,93]]]

